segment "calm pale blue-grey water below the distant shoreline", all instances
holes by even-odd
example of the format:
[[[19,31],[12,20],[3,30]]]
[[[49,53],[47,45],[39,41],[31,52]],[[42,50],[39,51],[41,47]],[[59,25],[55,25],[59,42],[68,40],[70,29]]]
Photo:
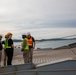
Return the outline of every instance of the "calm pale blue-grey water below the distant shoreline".
[[[35,48],[57,48],[57,47],[68,45],[75,42],[76,42],[76,39],[42,41],[42,42],[36,42]],[[21,42],[14,42],[14,45],[21,46]]]

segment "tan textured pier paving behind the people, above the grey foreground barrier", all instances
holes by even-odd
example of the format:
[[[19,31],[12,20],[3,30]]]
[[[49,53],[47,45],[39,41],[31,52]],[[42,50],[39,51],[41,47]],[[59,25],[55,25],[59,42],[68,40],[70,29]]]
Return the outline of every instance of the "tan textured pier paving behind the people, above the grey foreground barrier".
[[[45,63],[55,63],[64,60],[76,60],[76,48],[59,50],[52,50],[51,48],[47,48],[33,51],[33,63],[36,65]],[[3,66],[3,60],[1,64]],[[17,64],[24,64],[23,55],[20,48],[14,49],[12,65]]]

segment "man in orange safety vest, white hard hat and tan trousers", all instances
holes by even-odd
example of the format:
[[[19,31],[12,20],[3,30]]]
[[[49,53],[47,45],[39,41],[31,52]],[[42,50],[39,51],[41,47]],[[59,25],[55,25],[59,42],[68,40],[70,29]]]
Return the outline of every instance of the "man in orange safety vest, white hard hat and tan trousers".
[[[31,34],[27,33],[27,40],[29,45],[29,62],[33,62],[33,49],[35,48],[35,39]]]

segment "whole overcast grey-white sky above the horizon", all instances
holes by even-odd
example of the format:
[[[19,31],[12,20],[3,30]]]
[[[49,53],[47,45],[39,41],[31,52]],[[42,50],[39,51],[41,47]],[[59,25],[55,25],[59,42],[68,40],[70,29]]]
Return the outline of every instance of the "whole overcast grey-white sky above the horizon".
[[[76,0],[0,0],[0,33],[11,31],[14,38],[20,38],[22,33],[31,32],[36,38],[47,38],[51,28],[71,28],[60,31],[64,36],[76,33]],[[38,29],[45,29],[46,34],[36,35]]]

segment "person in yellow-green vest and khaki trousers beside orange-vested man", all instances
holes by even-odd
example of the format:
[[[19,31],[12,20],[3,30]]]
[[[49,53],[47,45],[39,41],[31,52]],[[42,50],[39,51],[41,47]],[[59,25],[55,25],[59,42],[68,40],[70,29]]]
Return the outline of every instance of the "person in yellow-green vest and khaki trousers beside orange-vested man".
[[[28,63],[29,62],[29,46],[28,46],[26,35],[23,34],[22,38],[23,38],[23,40],[22,40],[21,51],[23,52],[24,63]]]

